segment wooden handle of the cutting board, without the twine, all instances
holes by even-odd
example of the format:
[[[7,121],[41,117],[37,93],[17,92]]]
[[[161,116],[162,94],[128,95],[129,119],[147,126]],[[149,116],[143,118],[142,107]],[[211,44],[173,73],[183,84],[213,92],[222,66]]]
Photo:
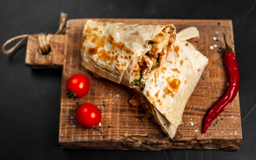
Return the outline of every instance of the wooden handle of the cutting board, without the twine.
[[[67,35],[52,35],[48,53],[40,52],[38,36],[39,34],[34,34],[28,37],[25,64],[34,69],[62,67],[66,57]]]

